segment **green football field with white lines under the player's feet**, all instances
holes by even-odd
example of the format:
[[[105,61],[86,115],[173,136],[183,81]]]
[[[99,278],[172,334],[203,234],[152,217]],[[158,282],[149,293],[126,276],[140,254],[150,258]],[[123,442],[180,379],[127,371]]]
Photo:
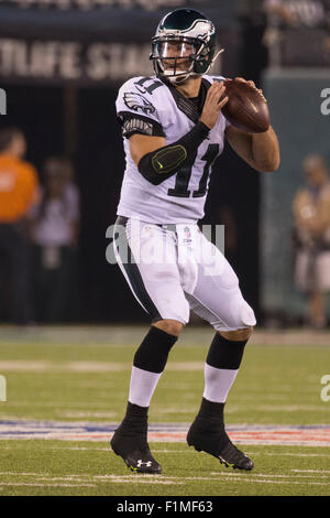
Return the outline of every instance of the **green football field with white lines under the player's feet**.
[[[111,452],[130,368],[146,327],[1,327],[0,496],[329,496],[330,334],[256,331],[227,406],[228,433],[251,455],[238,472],[189,449],[204,390],[209,327],[188,326],[150,409],[162,475],[139,475]],[[3,378],[2,378],[3,379]],[[330,381],[328,381],[329,384]]]

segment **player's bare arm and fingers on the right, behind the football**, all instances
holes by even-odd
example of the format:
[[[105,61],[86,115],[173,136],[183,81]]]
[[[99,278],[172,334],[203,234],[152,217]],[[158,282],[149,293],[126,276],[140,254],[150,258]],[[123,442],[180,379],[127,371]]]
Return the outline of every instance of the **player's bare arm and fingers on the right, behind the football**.
[[[245,82],[242,77],[238,80]],[[252,80],[246,83],[255,86]],[[262,90],[260,90],[262,93]],[[226,138],[232,149],[256,171],[264,173],[276,171],[279,166],[279,145],[272,126],[263,133],[245,133],[233,126],[228,126]]]

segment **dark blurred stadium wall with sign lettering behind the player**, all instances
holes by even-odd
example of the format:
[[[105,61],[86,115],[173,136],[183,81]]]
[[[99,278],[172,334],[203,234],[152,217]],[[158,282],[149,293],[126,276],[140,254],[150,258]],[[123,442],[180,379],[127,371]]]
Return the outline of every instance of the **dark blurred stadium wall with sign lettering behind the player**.
[[[114,100],[127,78],[151,73],[156,24],[183,6],[216,23],[226,48],[216,72],[264,88],[282,147],[280,169],[272,175],[256,174],[227,148],[202,223],[226,223],[228,257],[260,324],[299,324],[305,299],[293,281],[290,204],[304,182],[304,157],[318,152],[330,160],[329,116],[320,110],[321,91],[330,87],[329,2],[0,0],[0,87],[7,93],[0,129],[24,132],[26,160],[41,183],[48,157],[69,158],[80,194],[78,249],[59,320],[146,322],[105,255],[124,166]],[[0,320],[7,322],[1,291]]]

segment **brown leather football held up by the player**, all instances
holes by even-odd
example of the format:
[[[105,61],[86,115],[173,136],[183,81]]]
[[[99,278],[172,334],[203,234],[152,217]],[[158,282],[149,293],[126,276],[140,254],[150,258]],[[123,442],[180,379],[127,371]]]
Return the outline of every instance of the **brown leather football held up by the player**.
[[[222,108],[227,120],[249,133],[262,133],[270,128],[267,101],[258,89],[238,79],[226,79],[228,101]]]

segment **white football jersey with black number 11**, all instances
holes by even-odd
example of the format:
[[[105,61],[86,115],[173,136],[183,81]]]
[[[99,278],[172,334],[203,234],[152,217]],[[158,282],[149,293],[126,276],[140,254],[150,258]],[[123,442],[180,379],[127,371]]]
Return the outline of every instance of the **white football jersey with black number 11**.
[[[208,88],[220,76],[202,76]],[[186,134],[198,121],[199,114],[191,101],[175,87],[167,86],[156,76],[134,77],[120,88],[116,102],[123,125],[123,134],[133,132],[164,136],[170,144]],[[223,150],[228,122],[220,112],[216,126],[196,150],[193,166],[184,166],[160,185],[153,185],[139,172],[129,140],[123,138],[125,172],[117,214],[144,222],[197,223],[204,217],[205,202],[211,166]],[[131,133],[132,134],[132,133]]]

